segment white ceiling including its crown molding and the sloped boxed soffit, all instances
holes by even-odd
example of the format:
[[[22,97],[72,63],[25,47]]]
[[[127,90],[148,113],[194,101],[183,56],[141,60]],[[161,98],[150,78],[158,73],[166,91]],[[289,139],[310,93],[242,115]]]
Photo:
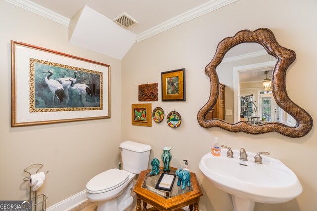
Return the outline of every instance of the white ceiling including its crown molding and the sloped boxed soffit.
[[[121,60],[135,42],[238,0],[5,1],[67,26],[69,43]],[[138,23],[118,28],[112,20],[123,12]]]

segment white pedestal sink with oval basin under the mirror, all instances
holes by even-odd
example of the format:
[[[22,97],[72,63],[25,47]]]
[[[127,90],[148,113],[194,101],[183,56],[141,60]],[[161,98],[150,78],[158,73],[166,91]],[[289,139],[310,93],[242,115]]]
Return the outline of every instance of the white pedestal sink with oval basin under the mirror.
[[[240,160],[240,152],[226,150],[220,156],[207,153],[199,169],[216,187],[232,195],[234,211],[253,211],[255,202],[276,204],[296,198],[303,188],[295,173],[280,160],[263,156],[262,164],[254,162],[255,153],[247,152],[248,161]]]

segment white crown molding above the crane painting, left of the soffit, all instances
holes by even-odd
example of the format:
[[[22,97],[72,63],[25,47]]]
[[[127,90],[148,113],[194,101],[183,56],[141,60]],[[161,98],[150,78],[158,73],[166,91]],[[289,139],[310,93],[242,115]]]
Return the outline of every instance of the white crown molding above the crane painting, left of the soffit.
[[[13,5],[19,6],[35,14],[46,17],[64,26],[67,26],[67,27],[69,26],[69,22],[70,22],[69,18],[66,18],[60,14],[57,14],[56,12],[53,12],[52,10],[49,10],[29,0],[4,0],[4,1],[9,2]]]

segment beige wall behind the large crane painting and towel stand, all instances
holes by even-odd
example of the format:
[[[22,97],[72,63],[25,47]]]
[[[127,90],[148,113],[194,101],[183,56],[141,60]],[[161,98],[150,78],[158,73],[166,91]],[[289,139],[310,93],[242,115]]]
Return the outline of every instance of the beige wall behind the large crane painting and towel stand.
[[[82,190],[98,173],[118,165],[121,141],[121,61],[68,44],[68,28],[0,0],[0,200],[28,198],[23,169],[50,171],[38,193],[47,207]],[[10,40],[111,65],[111,118],[11,127]]]

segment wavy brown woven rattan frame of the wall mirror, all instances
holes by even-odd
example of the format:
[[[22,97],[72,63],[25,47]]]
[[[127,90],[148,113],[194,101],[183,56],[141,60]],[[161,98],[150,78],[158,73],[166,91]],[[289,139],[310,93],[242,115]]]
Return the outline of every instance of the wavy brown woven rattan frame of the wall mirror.
[[[290,127],[278,122],[270,122],[263,125],[253,126],[244,121],[230,124],[220,119],[205,119],[206,114],[216,104],[216,100],[219,95],[219,78],[216,73],[216,67],[221,63],[228,50],[244,42],[255,42],[261,44],[268,54],[274,56],[277,59],[272,74],[272,92],[277,104],[285,112],[295,118],[296,125],[294,127]],[[218,44],[213,59],[205,67],[205,73],[210,78],[211,89],[208,102],[199,110],[197,114],[199,125],[204,128],[220,127],[230,132],[245,132],[248,134],[278,132],[291,138],[305,136],[313,127],[313,119],[304,109],[296,105],[288,97],[285,85],[287,68],[294,62],[295,58],[295,52],[280,46],[277,43],[273,32],[267,28],[260,28],[255,31],[242,30],[237,32],[233,37],[227,37],[223,39]]]

